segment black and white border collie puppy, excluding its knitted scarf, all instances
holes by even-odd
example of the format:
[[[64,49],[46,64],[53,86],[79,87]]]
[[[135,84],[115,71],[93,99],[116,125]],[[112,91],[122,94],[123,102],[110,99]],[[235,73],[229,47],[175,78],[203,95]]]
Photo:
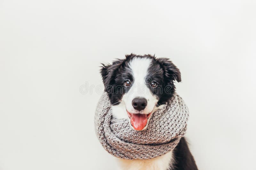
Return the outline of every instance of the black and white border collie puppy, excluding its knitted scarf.
[[[102,64],[101,75],[112,103],[113,116],[128,119],[131,128],[145,130],[154,111],[171,99],[180,70],[167,58],[126,55],[112,64]],[[185,138],[163,156],[146,160],[118,159],[124,170],[197,170]]]

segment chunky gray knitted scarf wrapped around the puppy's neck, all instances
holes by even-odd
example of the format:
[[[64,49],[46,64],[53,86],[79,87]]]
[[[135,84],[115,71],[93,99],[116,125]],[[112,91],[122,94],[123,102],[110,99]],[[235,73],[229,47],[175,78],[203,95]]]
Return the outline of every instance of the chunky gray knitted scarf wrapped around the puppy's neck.
[[[104,93],[95,111],[95,131],[101,145],[123,159],[151,159],[172,151],[187,130],[188,107],[176,93],[156,110],[144,131],[135,131],[128,119],[112,117],[111,103]]]

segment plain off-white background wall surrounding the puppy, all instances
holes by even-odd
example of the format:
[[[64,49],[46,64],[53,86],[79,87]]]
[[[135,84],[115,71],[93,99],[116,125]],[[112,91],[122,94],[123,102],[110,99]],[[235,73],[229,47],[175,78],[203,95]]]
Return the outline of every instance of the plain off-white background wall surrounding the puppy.
[[[0,170],[113,169],[94,133],[100,93],[79,89],[102,85],[100,63],[131,52],[180,68],[199,169],[253,169],[255,9],[253,0],[0,0]]]

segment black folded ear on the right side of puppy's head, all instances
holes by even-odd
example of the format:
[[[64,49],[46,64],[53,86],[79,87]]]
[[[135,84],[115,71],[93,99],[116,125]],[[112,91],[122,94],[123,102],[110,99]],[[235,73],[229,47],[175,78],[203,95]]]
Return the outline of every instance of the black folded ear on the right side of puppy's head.
[[[164,76],[172,81],[181,81],[180,70],[168,58],[156,59],[164,70]]]

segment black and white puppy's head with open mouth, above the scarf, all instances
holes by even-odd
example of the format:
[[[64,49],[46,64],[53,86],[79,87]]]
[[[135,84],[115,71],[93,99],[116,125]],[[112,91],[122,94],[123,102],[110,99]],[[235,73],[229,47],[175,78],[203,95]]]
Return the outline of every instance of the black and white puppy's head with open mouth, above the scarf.
[[[130,54],[102,65],[114,116],[129,119],[137,131],[147,128],[154,111],[173,96],[174,81],[181,81],[179,69],[167,58]]]

